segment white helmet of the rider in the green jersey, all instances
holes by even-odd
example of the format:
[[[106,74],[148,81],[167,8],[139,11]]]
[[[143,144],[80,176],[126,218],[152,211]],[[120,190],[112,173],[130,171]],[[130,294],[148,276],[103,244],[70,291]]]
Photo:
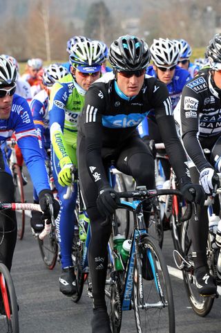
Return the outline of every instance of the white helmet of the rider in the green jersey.
[[[103,46],[95,40],[76,43],[69,56],[70,64],[74,67],[100,66],[104,60]]]

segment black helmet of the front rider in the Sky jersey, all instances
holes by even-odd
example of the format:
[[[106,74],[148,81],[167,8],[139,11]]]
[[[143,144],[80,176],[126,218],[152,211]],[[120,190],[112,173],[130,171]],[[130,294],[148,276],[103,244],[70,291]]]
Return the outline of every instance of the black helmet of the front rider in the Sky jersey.
[[[113,69],[140,71],[148,66],[151,60],[151,51],[144,40],[125,35],[111,44],[108,59]]]

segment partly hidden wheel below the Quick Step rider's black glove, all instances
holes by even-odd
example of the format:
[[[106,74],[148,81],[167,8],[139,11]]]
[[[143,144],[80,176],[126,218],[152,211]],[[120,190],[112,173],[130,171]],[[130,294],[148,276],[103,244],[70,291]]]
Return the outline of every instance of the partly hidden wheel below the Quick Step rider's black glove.
[[[41,258],[46,267],[50,270],[55,267],[58,256],[58,244],[55,233],[55,227],[52,226],[49,235],[46,235],[44,240],[40,240],[39,237],[37,237]]]

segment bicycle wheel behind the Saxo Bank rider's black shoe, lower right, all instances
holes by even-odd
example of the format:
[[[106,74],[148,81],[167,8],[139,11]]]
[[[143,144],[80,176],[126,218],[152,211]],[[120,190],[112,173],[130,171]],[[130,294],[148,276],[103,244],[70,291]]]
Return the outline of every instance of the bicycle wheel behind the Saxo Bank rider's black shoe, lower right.
[[[184,287],[186,289],[187,298],[191,307],[193,308],[193,311],[198,314],[198,316],[204,317],[211,311],[214,297],[200,296],[197,288],[194,285],[194,267],[192,255],[193,250],[191,247],[191,238],[189,237],[188,227],[189,221],[185,221],[182,224],[181,245],[184,259],[191,264],[191,267],[184,267],[184,269],[182,269]]]

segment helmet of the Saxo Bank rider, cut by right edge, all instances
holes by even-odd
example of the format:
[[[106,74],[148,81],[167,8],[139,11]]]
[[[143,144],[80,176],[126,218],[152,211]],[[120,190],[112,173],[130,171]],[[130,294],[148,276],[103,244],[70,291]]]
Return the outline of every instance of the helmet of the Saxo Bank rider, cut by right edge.
[[[212,69],[221,69],[221,33],[215,34],[211,39],[206,47],[205,57],[209,59]]]

